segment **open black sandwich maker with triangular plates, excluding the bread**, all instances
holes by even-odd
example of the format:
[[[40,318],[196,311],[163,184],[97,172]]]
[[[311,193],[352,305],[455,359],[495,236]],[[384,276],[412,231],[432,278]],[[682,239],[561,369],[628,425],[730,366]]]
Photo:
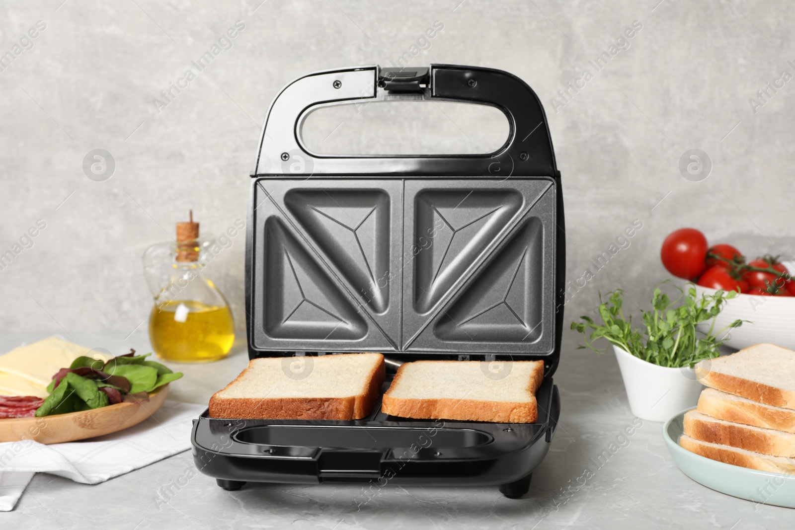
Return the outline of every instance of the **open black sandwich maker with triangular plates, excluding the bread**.
[[[301,140],[324,106],[452,101],[497,107],[508,140],[488,155],[327,156]],[[426,103],[427,104],[427,103]],[[384,126],[389,126],[385,123]],[[491,68],[363,66],[304,75],[270,106],[251,174],[246,228],[250,358],[285,377],[316,355],[380,352],[389,388],[418,359],[479,361],[501,379],[542,360],[534,424],[387,416],[194,420],[193,457],[224,489],[246,482],[529,489],[549,451],[560,395],[564,215],[541,102]]]

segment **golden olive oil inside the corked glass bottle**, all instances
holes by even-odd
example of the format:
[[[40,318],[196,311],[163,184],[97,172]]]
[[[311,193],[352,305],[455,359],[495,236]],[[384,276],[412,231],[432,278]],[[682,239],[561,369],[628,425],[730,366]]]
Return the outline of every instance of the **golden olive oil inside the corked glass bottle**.
[[[158,357],[169,361],[215,361],[235,342],[235,323],[227,305],[166,300],[149,315],[149,339]]]

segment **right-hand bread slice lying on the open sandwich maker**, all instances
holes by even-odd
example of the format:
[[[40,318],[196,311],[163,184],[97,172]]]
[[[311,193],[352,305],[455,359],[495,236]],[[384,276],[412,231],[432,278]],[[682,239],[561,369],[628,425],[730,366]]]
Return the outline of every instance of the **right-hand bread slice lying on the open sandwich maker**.
[[[543,361],[416,361],[397,369],[381,410],[404,418],[532,424]]]

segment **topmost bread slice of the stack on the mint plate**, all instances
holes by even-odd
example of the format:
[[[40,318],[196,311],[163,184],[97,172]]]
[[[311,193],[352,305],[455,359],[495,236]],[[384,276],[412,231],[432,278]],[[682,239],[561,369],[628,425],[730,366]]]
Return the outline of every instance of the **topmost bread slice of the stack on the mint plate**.
[[[795,409],[795,351],[773,344],[701,361],[696,377],[713,389],[774,407]]]

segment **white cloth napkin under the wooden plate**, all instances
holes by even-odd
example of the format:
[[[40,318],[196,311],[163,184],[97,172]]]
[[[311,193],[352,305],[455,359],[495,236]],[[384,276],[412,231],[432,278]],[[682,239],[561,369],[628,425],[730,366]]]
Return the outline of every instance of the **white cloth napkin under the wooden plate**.
[[[0,443],[0,512],[14,509],[37,472],[96,484],[187,451],[192,420],[205,408],[166,400],[152,417],[110,435],[52,445],[33,440]]]

